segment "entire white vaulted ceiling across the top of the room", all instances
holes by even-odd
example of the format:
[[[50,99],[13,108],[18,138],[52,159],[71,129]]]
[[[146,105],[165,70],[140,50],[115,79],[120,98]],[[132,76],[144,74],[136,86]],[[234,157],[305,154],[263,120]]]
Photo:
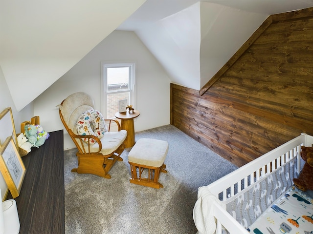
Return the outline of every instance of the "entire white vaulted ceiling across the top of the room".
[[[113,30],[128,30],[172,82],[199,90],[269,15],[312,6],[313,0],[0,0],[0,66],[21,110]]]

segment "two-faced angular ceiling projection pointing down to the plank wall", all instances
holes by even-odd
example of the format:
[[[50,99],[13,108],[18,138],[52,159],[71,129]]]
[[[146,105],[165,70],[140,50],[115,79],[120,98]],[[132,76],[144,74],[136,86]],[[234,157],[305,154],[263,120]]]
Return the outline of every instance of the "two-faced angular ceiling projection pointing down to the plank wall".
[[[136,34],[173,83],[200,90],[267,17],[198,2]]]

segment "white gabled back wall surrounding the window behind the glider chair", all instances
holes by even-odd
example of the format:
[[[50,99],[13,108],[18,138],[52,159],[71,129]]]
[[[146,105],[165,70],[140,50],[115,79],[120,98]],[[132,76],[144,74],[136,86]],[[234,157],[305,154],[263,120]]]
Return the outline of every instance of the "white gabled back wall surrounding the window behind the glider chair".
[[[134,32],[113,31],[63,77],[34,100],[35,115],[48,132],[64,129],[58,108],[68,95],[89,93],[100,110],[101,61],[136,61],[137,104],[135,132],[170,124],[170,79]],[[65,135],[65,149],[74,144]]]

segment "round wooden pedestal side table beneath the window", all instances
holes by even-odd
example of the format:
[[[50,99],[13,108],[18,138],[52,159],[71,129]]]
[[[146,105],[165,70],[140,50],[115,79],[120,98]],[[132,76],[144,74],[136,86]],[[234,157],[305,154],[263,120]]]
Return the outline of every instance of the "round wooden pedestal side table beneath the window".
[[[127,131],[127,137],[125,139],[125,148],[133,147],[135,144],[135,130],[134,130],[134,118],[138,117],[140,112],[134,110],[134,112],[116,112],[115,117],[121,119],[121,129]]]

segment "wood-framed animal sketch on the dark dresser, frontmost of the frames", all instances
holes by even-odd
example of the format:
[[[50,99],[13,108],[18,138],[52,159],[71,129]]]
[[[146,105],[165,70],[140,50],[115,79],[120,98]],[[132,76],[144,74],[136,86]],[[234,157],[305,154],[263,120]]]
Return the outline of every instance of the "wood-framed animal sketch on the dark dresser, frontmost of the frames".
[[[26,169],[12,136],[0,148],[0,171],[12,197],[19,196]]]

